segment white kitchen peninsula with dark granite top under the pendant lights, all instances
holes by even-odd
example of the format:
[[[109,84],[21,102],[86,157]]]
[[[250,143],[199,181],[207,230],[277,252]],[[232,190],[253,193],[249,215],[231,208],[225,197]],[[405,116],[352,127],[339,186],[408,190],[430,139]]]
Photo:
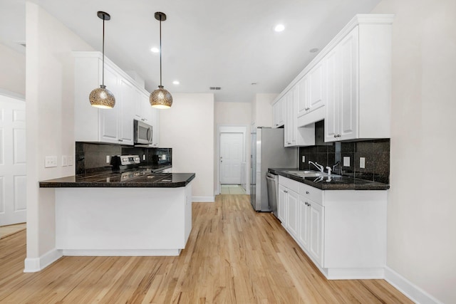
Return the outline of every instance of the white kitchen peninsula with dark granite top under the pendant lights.
[[[63,256],[177,256],[192,229],[194,173],[93,172],[40,182],[55,188]]]

